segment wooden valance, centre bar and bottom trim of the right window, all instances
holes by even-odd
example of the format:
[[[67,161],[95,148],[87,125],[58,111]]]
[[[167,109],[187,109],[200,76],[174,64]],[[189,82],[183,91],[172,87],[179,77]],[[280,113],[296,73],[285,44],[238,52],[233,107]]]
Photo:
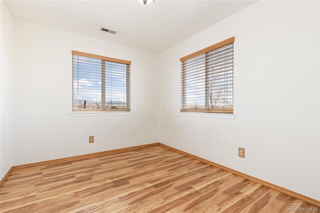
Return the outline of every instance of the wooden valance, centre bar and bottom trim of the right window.
[[[208,47],[205,47],[205,48],[203,48],[203,49],[200,49],[200,50],[198,50],[198,51],[196,51],[196,52],[193,52],[193,53],[191,53],[191,54],[188,54],[188,55],[186,55],[186,56],[184,56],[184,57],[181,57],[180,58],[180,62],[183,64],[184,63],[184,61],[185,60],[188,60],[188,59],[191,59],[191,58],[193,58],[193,57],[196,57],[196,56],[199,56],[199,55],[201,55],[201,54],[204,54],[204,64],[206,64],[206,54],[207,54],[207,52],[209,52],[209,51],[211,51],[211,50],[214,50],[214,49],[217,49],[217,48],[220,48],[220,47],[222,47],[222,46],[225,46],[225,45],[227,45],[227,44],[230,44],[230,43],[233,43],[234,42],[234,36],[232,36],[232,37],[229,37],[229,38],[227,38],[227,39],[225,39],[225,40],[222,40],[222,41],[220,41],[220,42],[218,42],[218,43],[215,43],[215,44],[213,44],[213,45],[211,45],[211,46],[208,46]],[[205,65],[206,66],[206,65]],[[233,66],[233,65],[232,65]],[[233,71],[232,71],[232,73],[233,73]],[[206,76],[207,74],[206,74],[206,71],[205,71],[205,74],[204,74],[204,79],[205,78],[207,78],[207,76]],[[204,82],[205,82],[206,80],[204,80]],[[183,98],[185,98],[185,96],[184,96],[184,84],[183,84],[183,82],[184,82],[184,79],[181,79],[181,82],[182,82],[182,86],[183,86],[183,93],[182,93],[182,99]],[[232,76],[232,84],[233,84],[233,76]],[[207,93],[207,85],[206,85],[206,83],[205,83],[205,94]],[[233,96],[233,92],[232,92],[232,96]],[[207,101],[206,100],[206,98],[205,98],[205,101]],[[182,100],[182,107],[183,108],[180,108],[180,112],[214,112],[214,113],[228,113],[228,114],[233,114],[233,105],[232,105],[232,109],[209,109],[209,108],[199,108],[199,109],[185,109],[184,108],[184,100]]]

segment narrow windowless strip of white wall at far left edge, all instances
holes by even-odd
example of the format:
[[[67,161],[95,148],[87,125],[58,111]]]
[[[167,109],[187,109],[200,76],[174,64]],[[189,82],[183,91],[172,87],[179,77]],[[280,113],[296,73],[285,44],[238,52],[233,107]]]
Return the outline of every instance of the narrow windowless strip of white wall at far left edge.
[[[0,26],[0,179],[12,158],[12,17],[1,0]]]

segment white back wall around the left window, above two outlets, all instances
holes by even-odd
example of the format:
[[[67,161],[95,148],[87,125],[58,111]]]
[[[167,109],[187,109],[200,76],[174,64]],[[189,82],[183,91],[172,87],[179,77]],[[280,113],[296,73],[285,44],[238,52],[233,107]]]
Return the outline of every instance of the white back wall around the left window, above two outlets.
[[[13,40],[15,165],[157,141],[157,53],[20,19]],[[70,116],[71,50],[131,60],[132,114]]]

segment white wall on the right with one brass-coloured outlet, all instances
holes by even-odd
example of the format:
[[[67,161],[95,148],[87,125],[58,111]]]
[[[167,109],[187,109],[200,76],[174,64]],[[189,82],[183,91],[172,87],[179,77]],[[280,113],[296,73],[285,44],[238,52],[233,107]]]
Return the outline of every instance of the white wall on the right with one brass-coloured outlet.
[[[180,115],[179,58],[231,36],[235,119]],[[320,199],[318,1],[258,1],[160,53],[159,79],[161,142]]]

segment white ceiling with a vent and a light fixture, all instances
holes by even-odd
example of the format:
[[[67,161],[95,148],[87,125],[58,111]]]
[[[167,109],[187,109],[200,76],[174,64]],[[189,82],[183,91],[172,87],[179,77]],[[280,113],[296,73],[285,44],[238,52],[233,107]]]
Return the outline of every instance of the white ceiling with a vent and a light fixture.
[[[11,15],[116,43],[161,52],[254,3],[251,0],[6,0]],[[100,26],[118,31],[100,31]]]

